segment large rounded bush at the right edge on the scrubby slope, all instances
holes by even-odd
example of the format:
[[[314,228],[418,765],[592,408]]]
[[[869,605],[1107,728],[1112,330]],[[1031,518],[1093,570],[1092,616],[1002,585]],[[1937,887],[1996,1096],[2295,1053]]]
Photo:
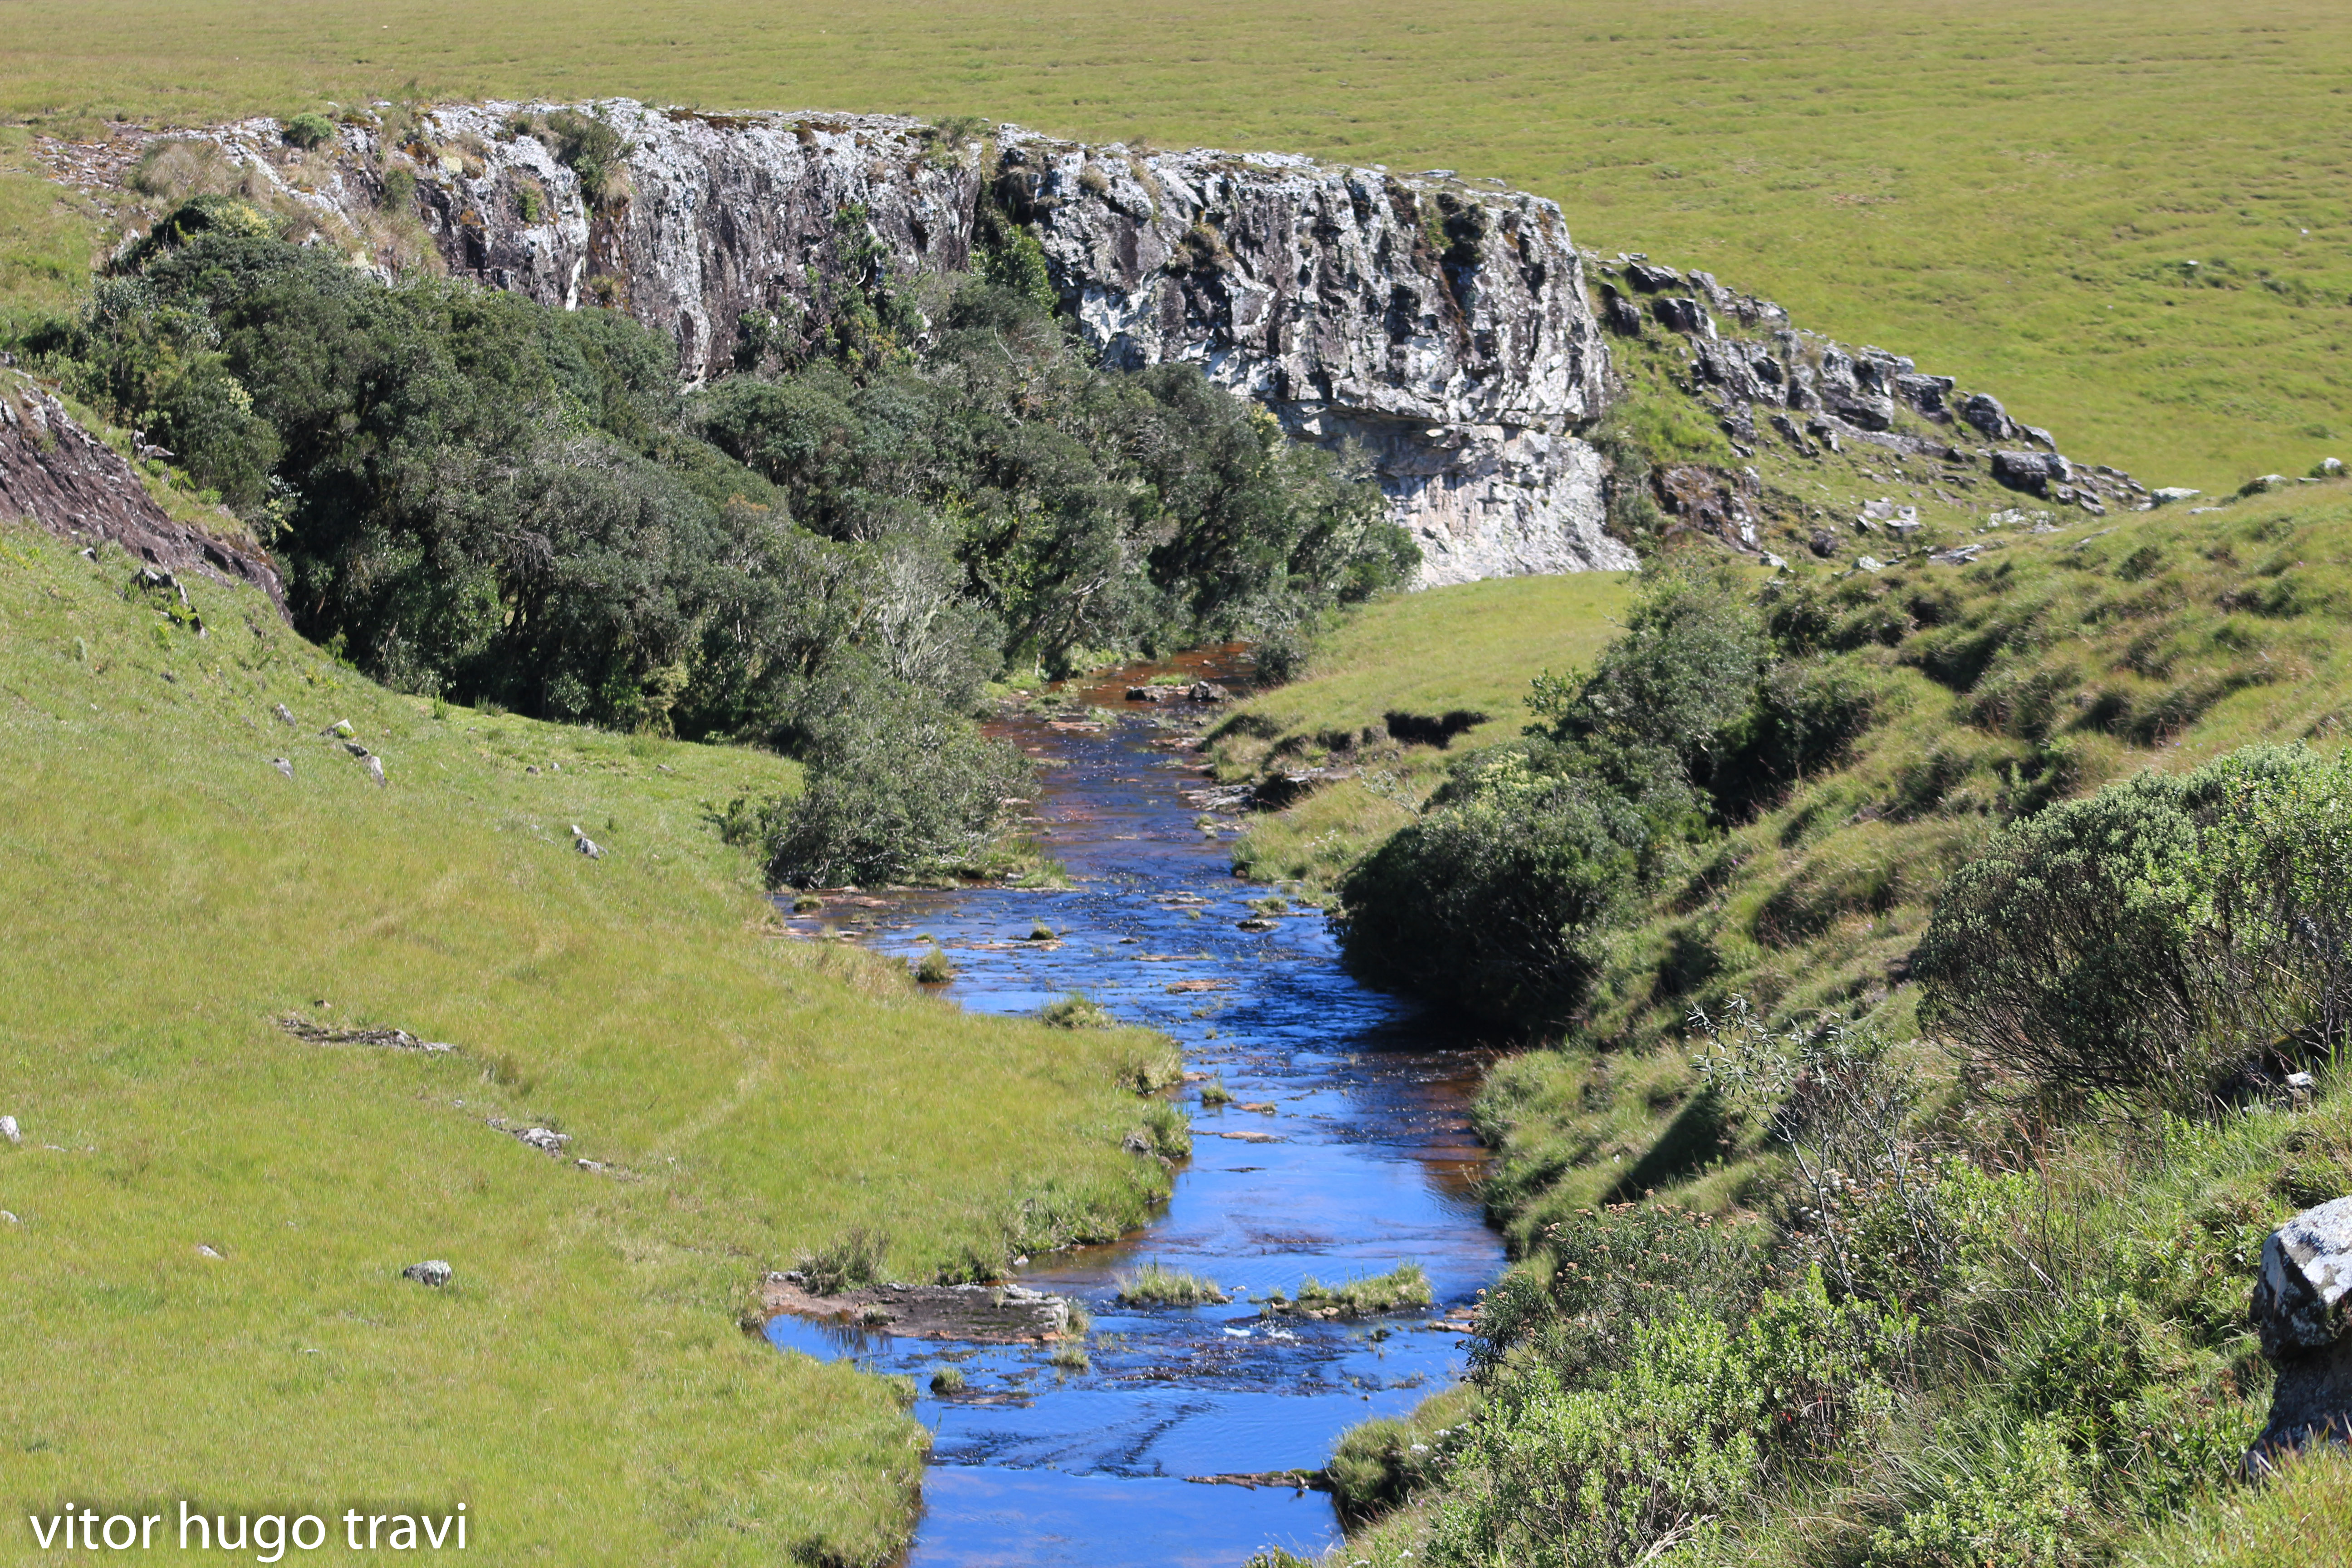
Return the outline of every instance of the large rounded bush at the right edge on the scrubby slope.
[[[1926,1016],[2056,1100],[2185,1110],[2343,1044],[2352,769],[2249,748],[2011,825],[1943,891]]]

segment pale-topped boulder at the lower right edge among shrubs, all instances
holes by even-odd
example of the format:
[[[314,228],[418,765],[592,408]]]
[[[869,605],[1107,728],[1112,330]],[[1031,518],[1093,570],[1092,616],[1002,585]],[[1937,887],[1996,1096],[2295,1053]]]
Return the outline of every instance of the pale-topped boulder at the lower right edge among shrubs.
[[[2281,1448],[2352,1436],[2352,1197],[2305,1208],[2270,1232],[2249,1316],[2263,1354],[2277,1361],[2270,1422],[2249,1462]]]

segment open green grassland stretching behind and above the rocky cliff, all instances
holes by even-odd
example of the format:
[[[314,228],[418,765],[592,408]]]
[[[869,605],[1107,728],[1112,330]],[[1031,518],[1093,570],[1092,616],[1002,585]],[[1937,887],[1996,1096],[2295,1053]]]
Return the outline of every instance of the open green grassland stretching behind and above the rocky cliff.
[[[0,115],[64,129],[628,92],[1456,167],[1557,197],[1585,244],[1712,268],[1992,388],[2152,484],[2300,473],[2352,435],[2347,153],[2314,134],[2352,92],[2352,12],[2326,0],[16,0],[9,19]]]

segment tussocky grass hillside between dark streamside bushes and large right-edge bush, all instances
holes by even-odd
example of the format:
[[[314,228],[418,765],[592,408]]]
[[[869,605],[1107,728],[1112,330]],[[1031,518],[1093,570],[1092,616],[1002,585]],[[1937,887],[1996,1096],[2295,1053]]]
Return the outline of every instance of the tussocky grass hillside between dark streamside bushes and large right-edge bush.
[[[1576,1048],[1489,1084],[1494,1197],[1522,1241],[1684,1180],[1736,1201],[1740,1168],[1682,1114],[1691,1006],[1745,994],[1903,1034],[1936,891],[2011,816],[2256,741],[2340,745],[2352,487],[2013,536],[1959,569],[1818,571],[1776,614],[1816,628],[1877,724],[1621,931]]]

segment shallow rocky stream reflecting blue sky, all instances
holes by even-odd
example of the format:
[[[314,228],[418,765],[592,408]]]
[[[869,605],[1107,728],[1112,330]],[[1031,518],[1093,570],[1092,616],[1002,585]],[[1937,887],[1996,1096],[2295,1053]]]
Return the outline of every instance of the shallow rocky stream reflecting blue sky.
[[[1117,710],[1122,670],[1082,696]],[[1185,661],[1185,675],[1202,670]],[[1211,668],[1214,672],[1214,668]],[[1192,1159],[1167,1211],[1112,1246],[1035,1258],[1021,1284],[1084,1298],[1091,1368],[1047,1347],[858,1335],[797,1316],[779,1347],[906,1373],[936,1434],[910,1563],[969,1568],[1235,1568],[1279,1544],[1338,1542],[1331,1500],[1185,1476],[1319,1467],[1338,1434],[1399,1415],[1461,1373],[1456,1333],[1432,1331],[1503,1265],[1472,1182],[1482,1150],[1468,1095],[1482,1058],[1411,1006],[1350,980],[1319,914],[1242,931],[1249,898],[1221,837],[1183,790],[1190,757],[1155,748],[1152,712],[1101,729],[1011,717],[993,726],[1042,762],[1040,839],[1070,891],[957,889],[828,900],[793,924],[913,954],[938,938],[971,1011],[1028,1013],[1082,990],[1122,1023],[1183,1044],[1185,1067],[1221,1074],[1235,1105],[1197,1105]],[[1028,940],[1037,922],[1054,940]],[[1265,1105],[1270,1110],[1242,1110]],[[1230,1307],[1129,1309],[1115,1274],[1145,1260],[1207,1274]],[[1432,1312],[1357,1324],[1261,1319],[1242,1293],[1296,1293],[1397,1262],[1428,1269]],[[929,1392],[955,1366],[967,1389]]]

